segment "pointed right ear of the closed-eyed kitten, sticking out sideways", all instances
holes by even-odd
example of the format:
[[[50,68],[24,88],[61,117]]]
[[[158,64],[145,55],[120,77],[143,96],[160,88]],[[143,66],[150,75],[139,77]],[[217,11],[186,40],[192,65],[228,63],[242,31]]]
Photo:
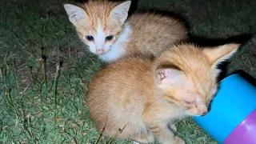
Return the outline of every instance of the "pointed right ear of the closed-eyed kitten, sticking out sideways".
[[[230,43],[222,46],[217,46],[212,49],[206,48],[203,51],[206,54],[211,68],[215,68],[219,63],[230,58],[239,48],[240,44]]]

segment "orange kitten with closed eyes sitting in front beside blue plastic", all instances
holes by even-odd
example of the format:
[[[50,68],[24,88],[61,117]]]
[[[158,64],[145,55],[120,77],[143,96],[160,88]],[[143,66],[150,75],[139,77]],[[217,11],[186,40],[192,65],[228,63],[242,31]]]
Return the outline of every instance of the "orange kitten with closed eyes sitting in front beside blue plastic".
[[[90,117],[103,134],[135,142],[185,143],[172,120],[205,115],[217,91],[217,65],[238,44],[199,49],[170,46],[154,61],[127,57],[100,70],[86,98]]]

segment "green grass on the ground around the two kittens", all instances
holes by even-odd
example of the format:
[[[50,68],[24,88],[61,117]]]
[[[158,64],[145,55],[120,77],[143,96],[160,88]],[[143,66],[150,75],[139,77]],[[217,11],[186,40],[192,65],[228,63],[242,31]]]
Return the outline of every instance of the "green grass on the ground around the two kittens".
[[[256,33],[253,0],[140,0],[138,9],[182,14],[190,32],[207,38]],[[0,143],[107,143],[83,105],[88,83],[104,63],[82,45],[62,2],[0,0]],[[227,73],[256,78],[255,38],[229,62]],[[216,143],[190,118],[178,122],[187,143]],[[116,141],[115,143],[130,143]]]

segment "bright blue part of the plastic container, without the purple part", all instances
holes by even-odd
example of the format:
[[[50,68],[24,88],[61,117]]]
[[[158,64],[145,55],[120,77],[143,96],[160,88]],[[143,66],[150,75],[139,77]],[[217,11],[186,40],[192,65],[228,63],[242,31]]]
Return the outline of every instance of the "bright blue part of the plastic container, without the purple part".
[[[206,133],[223,143],[227,136],[256,109],[256,88],[239,74],[222,80],[208,114],[194,117]]]

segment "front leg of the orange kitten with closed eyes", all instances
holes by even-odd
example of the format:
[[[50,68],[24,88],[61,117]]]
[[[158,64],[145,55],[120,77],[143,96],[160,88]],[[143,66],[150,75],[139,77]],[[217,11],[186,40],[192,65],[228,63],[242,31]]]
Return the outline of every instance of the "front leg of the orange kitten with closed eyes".
[[[175,126],[176,127],[176,126]],[[150,131],[162,144],[185,144],[182,138],[174,136],[166,124],[156,124],[150,126]]]

